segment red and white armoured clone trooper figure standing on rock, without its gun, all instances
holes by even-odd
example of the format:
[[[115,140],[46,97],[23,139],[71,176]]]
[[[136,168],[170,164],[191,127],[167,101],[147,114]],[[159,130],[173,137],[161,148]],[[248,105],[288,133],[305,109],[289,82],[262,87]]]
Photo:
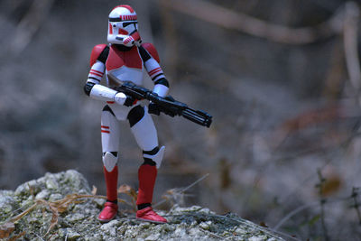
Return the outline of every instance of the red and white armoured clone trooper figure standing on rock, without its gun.
[[[167,220],[152,209],[153,187],[157,169],[162,162],[164,146],[158,145],[158,137],[152,117],[155,106],[142,107],[132,97],[116,91],[123,81],[143,84],[145,69],[153,79],[153,92],[161,97],[168,93],[169,84],[159,65],[158,53],[152,43],[143,43],[137,31],[138,22],[134,9],[129,5],[118,5],[109,14],[107,42],[96,45],[91,52],[90,71],[84,87],[86,94],[105,102],[101,115],[101,139],[103,164],[106,178],[106,204],[98,219],[110,221],[117,213],[118,179],[118,121],[129,122],[136,143],[143,151],[143,164],[138,170],[139,190],[136,200],[136,218],[156,223]],[[106,84],[100,85],[106,75]],[[108,79],[111,75],[119,81]]]

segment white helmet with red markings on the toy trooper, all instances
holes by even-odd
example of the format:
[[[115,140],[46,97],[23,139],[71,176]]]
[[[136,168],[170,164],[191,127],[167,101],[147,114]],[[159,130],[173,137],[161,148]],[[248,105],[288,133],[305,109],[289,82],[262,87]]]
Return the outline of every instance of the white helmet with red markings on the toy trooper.
[[[118,5],[110,12],[107,42],[127,47],[140,42],[136,13],[130,5]]]

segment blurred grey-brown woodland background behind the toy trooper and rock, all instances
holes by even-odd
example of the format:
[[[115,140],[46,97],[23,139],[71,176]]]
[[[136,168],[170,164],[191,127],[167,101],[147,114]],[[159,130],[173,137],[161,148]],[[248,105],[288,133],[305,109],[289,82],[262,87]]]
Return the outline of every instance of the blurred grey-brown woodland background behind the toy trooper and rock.
[[[214,119],[153,117],[166,146],[159,209],[197,204],[297,239],[361,240],[358,2],[1,0],[0,189],[76,169],[105,194],[103,103],[83,86],[122,4],[170,94]],[[142,153],[120,125],[119,181],[136,189]]]

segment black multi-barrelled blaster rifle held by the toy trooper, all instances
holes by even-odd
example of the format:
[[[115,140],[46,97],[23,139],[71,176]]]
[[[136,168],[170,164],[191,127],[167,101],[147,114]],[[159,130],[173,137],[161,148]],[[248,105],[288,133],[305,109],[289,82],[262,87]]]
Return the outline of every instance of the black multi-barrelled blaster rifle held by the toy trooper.
[[[121,83],[116,77],[111,74],[107,75],[108,79],[111,79],[114,82]],[[171,96],[160,97],[153,91],[139,87],[132,82],[123,82],[119,87],[116,87],[116,91],[125,93],[130,97],[135,99],[147,99],[155,104],[159,111],[168,116],[183,116],[190,121],[197,123],[199,125],[209,127],[212,123],[212,116],[208,115],[207,112],[202,110],[195,110],[188,107],[186,104],[181,103],[180,101],[175,100]]]

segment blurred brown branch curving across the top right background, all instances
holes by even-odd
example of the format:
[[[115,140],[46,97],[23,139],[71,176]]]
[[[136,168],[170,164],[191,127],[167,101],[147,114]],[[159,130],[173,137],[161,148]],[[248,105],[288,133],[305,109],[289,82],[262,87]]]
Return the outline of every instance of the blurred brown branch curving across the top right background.
[[[245,32],[273,42],[288,44],[306,44],[318,41],[342,31],[344,11],[336,11],[329,20],[312,27],[290,28],[247,14],[236,13],[225,7],[208,3],[204,0],[170,0],[167,7],[208,23]]]

